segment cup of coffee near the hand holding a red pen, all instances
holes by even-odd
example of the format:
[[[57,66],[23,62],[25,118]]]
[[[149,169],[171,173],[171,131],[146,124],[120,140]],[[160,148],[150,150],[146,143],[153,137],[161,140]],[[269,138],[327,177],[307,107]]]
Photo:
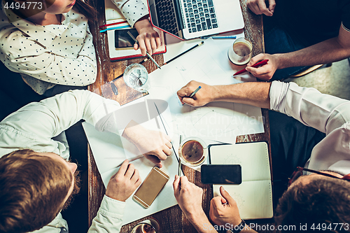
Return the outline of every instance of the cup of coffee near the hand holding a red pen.
[[[233,64],[244,65],[251,60],[253,45],[247,38],[241,37],[228,50],[228,58]]]

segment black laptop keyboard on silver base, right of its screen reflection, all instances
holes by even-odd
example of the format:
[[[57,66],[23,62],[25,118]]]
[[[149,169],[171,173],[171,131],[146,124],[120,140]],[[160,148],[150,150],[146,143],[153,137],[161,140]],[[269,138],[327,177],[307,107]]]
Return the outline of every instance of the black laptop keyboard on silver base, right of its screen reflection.
[[[213,0],[183,0],[188,32],[204,31],[218,27]]]

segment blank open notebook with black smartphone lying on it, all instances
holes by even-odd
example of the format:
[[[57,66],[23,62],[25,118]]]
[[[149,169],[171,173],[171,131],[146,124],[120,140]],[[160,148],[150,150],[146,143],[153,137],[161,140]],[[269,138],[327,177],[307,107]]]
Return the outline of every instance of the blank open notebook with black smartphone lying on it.
[[[239,143],[209,148],[211,164],[240,164],[242,183],[222,185],[235,199],[243,219],[272,218],[272,182],[267,143]],[[220,186],[213,185],[214,197]]]

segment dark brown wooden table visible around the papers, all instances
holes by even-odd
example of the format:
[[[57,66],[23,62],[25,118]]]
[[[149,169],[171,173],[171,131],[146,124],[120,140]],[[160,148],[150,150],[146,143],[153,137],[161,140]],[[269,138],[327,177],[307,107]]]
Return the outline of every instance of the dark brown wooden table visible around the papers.
[[[104,24],[104,1],[95,1],[95,8],[98,15],[98,20],[94,22],[94,24],[90,24],[90,29],[94,36],[94,45],[96,47],[97,57],[98,57],[98,71],[97,71],[97,80],[94,84],[89,86],[89,90],[92,92],[96,92],[97,94],[104,93],[104,97],[109,99],[115,99],[121,105],[126,104],[133,99],[137,99],[142,96],[141,93],[132,90],[130,87],[127,87],[123,81],[123,78],[118,78],[115,80],[115,84],[118,87],[118,95],[113,94],[111,91],[107,91],[106,88],[110,88],[110,85],[105,85],[106,83],[111,82],[114,78],[119,76],[125,70],[126,66],[132,63],[141,62],[141,58],[139,59],[129,59],[120,62],[111,62],[108,54],[108,46],[107,36],[106,34],[100,34],[98,31],[98,26]],[[253,41],[253,55],[258,55],[260,52],[264,52],[264,41],[262,36],[262,17],[258,15],[254,15],[250,10],[246,8],[246,0],[241,0],[241,8],[244,15],[244,22],[246,26],[244,28],[244,32],[247,38],[250,38]],[[155,60],[158,64],[163,64],[162,55],[156,55]],[[145,62],[144,66],[151,72],[155,70],[157,67],[151,61]],[[109,94],[108,94],[109,93]],[[270,151],[270,138],[269,138],[269,119],[267,110],[262,110],[262,116],[264,118],[264,134],[250,134],[239,136],[237,138],[237,142],[249,142],[249,141],[267,141],[269,144]],[[89,224],[91,225],[92,219],[96,216],[99,206],[102,201],[102,197],[105,192],[104,185],[102,183],[102,178],[97,171],[96,164],[94,162],[94,158],[92,157],[91,150],[88,155],[88,163],[89,163]],[[203,197],[203,209],[207,215],[209,214],[209,205],[210,200],[213,196],[210,185],[203,185],[200,183],[200,173],[198,171],[194,171],[186,166],[183,166],[183,172],[188,177],[188,180],[195,183],[204,189],[204,197]],[[195,228],[188,222],[186,217],[183,215],[181,209],[178,205],[173,206],[164,211],[160,211],[152,215],[153,218],[157,219],[160,222],[162,227],[162,232],[197,232]],[[130,232],[132,227],[139,223],[138,220],[134,223],[130,223],[129,225],[125,225],[122,227],[121,232]]]

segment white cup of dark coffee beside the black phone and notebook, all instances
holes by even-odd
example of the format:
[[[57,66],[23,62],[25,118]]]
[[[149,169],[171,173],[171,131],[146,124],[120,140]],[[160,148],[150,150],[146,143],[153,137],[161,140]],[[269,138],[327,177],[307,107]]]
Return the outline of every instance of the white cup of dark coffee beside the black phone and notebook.
[[[189,167],[196,167],[202,164],[207,158],[207,144],[202,139],[190,137],[179,146],[181,162]]]

